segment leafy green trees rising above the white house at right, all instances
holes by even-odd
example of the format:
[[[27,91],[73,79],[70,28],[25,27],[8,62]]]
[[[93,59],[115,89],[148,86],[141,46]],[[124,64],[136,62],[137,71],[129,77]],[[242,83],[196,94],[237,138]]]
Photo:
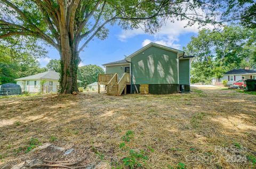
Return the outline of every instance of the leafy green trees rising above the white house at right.
[[[203,29],[185,47],[195,55],[191,64],[191,83],[210,83],[234,68],[255,68],[256,30],[227,26],[222,31]]]

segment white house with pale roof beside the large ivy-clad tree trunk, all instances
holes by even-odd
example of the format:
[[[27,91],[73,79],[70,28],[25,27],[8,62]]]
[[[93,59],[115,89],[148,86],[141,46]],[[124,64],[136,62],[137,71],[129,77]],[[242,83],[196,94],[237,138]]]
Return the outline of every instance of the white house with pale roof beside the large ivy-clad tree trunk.
[[[21,91],[26,91],[29,93],[49,93],[49,92],[57,92],[59,84],[60,74],[55,71],[45,71],[44,73],[31,75],[27,77],[22,77],[15,79],[17,84],[20,85]],[[45,80],[45,83],[41,85],[41,82]],[[77,81],[78,83],[82,83],[82,81]]]

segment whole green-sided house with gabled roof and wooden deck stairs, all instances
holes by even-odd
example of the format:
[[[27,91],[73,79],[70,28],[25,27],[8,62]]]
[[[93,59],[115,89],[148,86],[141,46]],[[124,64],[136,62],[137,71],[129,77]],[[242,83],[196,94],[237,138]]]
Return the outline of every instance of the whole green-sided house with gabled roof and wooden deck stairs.
[[[171,47],[150,43],[123,60],[103,64],[106,74],[98,85],[107,94],[169,94],[190,91],[190,63],[193,56]]]

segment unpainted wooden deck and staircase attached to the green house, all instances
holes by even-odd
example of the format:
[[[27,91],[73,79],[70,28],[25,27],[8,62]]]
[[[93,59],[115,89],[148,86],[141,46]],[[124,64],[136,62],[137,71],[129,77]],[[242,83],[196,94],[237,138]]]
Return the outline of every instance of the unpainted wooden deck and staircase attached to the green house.
[[[107,95],[121,95],[124,91],[126,94],[126,85],[130,84],[130,74],[124,73],[118,81],[117,74],[100,74],[98,77],[98,85],[104,84],[107,87]],[[109,77],[111,77],[109,79]],[[105,82],[102,82],[104,80]],[[109,81],[108,81],[109,80]],[[106,82],[108,81],[108,82]],[[98,91],[99,92],[99,91]]]

